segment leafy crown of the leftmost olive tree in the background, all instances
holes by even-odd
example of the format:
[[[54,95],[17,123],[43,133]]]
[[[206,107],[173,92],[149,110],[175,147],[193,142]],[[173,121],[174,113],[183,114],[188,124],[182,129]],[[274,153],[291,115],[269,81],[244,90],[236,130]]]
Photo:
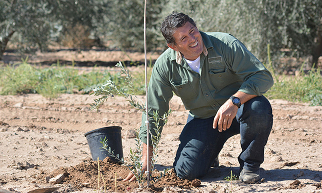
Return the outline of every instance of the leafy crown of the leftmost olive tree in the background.
[[[0,1],[0,59],[9,40],[17,34],[20,42],[16,46],[28,50],[38,46],[43,50],[47,46],[47,37],[53,30],[48,15],[51,9],[44,1]]]

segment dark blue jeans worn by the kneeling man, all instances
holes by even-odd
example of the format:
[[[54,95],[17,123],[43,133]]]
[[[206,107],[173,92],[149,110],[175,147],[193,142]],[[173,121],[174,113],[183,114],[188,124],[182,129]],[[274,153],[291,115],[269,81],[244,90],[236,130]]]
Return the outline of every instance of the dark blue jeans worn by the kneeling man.
[[[264,147],[270,134],[272,108],[264,96],[257,96],[243,104],[232,126],[226,131],[213,129],[214,116],[206,119],[189,115],[180,134],[180,144],[173,167],[178,177],[193,180],[206,175],[229,137],[241,136],[241,167],[258,171],[264,161]],[[217,127],[218,128],[218,127]]]

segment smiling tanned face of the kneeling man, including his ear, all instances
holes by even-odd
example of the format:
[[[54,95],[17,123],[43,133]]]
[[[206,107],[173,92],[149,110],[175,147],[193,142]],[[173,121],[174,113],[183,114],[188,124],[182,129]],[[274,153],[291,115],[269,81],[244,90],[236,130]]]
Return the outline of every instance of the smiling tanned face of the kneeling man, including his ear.
[[[173,34],[175,43],[168,44],[171,49],[180,52],[188,60],[197,59],[203,51],[203,42],[197,27],[187,22]]]

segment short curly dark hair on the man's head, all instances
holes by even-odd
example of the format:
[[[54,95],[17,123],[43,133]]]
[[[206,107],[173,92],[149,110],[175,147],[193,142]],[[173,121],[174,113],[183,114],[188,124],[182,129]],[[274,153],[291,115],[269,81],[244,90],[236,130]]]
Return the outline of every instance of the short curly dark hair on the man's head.
[[[166,39],[167,44],[175,44],[173,38],[175,30],[179,27],[185,26],[187,22],[190,22],[192,25],[196,26],[196,23],[192,18],[184,13],[178,13],[176,11],[173,11],[163,20],[160,26],[160,31],[162,32],[163,37]]]

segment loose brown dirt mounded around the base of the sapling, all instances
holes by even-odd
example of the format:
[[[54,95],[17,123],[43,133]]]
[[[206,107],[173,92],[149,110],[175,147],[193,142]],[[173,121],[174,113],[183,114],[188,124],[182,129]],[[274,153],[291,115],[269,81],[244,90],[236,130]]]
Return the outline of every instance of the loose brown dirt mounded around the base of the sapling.
[[[102,176],[98,178],[100,173]],[[93,161],[90,158],[84,159],[80,164],[68,167],[59,167],[58,169],[50,172],[49,174],[43,173],[38,176],[39,183],[44,179],[50,181],[59,175],[63,175],[64,178],[60,184],[64,186],[69,185],[73,187],[73,190],[82,190],[83,188],[104,189],[106,191],[117,192],[132,192],[139,188],[139,184],[136,181],[124,182],[123,179],[129,174],[129,169],[120,164],[113,163],[105,158],[103,161]],[[171,169],[165,176],[160,178],[157,182],[153,183],[160,176],[159,171],[155,170],[151,179],[150,190],[153,192],[160,192],[164,190],[164,187],[179,187],[184,189],[191,189],[200,186],[201,181],[195,179],[193,181],[182,180],[178,178],[173,169]],[[103,180],[104,179],[104,180]],[[198,183],[199,182],[199,183]]]

